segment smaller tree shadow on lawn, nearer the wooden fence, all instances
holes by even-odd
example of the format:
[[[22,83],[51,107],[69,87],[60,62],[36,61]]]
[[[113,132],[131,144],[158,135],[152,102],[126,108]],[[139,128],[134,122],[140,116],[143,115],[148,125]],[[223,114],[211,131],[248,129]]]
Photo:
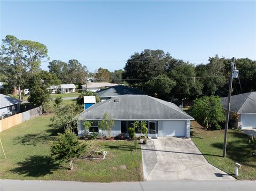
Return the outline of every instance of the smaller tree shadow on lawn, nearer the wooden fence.
[[[38,143],[49,142],[50,140],[54,140],[54,137],[49,136],[47,134],[27,134],[23,136],[17,136],[13,138],[14,144],[22,144],[22,145],[33,145],[36,146]]]

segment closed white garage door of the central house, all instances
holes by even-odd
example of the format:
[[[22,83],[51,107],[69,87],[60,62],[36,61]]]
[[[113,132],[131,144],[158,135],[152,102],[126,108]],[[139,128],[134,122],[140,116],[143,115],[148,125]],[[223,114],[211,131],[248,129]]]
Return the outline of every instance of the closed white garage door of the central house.
[[[163,121],[162,136],[186,136],[185,121]]]

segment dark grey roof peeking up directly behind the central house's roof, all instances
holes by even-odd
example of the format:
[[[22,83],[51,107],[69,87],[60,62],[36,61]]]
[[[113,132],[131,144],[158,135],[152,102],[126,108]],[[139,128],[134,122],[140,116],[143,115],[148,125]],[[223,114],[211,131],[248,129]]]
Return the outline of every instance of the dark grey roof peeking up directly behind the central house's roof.
[[[118,85],[109,87],[107,89],[102,89],[97,92],[97,94],[99,95],[99,97],[116,97],[120,95],[139,95],[145,93],[142,90],[131,86]]]

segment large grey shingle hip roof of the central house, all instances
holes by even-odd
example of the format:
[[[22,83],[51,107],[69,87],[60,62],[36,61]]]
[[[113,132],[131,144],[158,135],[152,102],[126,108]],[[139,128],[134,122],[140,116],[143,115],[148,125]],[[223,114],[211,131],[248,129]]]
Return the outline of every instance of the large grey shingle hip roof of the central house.
[[[108,99],[92,105],[76,119],[100,120],[105,112],[115,120],[194,120],[177,105],[147,95]]]

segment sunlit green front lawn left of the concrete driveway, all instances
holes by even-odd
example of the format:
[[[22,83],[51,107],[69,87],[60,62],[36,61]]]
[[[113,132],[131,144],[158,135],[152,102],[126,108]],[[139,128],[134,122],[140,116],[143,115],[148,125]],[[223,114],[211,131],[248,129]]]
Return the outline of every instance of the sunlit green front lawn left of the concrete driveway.
[[[1,179],[76,180],[85,182],[142,180],[141,150],[129,141],[93,141],[108,151],[103,161],[79,159],[74,170],[50,157],[50,142],[57,136],[52,115],[41,115],[0,133],[7,159],[1,150]],[[140,146],[139,146],[140,148]]]

